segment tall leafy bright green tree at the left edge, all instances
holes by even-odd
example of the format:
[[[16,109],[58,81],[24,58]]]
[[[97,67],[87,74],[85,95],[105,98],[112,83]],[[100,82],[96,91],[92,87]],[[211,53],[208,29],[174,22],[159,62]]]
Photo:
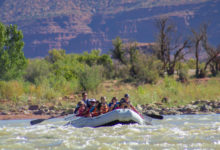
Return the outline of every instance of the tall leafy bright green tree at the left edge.
[[[23,52],[23,33],[16,25],[0,23],[0,79],[20,77],[27,65]]]

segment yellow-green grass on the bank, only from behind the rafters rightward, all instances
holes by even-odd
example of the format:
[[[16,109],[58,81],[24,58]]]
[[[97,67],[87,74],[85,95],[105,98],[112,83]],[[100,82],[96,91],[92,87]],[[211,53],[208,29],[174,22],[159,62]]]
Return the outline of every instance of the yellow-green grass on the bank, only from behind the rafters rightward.
[[[145,84],[132,86],[130,84],[115,84],[113,86],[103,84],[96,94],[90,94],[95,98],[105,95],[110,100],[112,96],[123,97],[129,93],[134,104],[151,104],[161,102],[166,97],[169,101],[167,106],[179,106],[189,104],[195,100],[220,100],[220,80],[192,80],[188,84],[177,82],[173,78],[165,78],[156,85]]]

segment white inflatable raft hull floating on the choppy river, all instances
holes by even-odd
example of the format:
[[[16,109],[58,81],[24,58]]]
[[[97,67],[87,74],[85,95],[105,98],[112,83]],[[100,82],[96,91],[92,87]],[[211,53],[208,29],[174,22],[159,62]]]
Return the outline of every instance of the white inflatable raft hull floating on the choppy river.
[[[77,128],[113,126],[116,124],[145,124],[146,120],[130,109],[116,109],[97,117],[77,117],[70,124]]]

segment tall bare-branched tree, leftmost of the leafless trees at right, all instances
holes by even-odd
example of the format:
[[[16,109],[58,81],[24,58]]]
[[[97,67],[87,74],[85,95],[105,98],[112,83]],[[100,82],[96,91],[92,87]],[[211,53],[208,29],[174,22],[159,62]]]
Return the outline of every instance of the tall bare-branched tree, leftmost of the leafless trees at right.
[[[158,33],[154,46],[155,53],[163,63],[164,73],[173,75],[177,62],[184,58],[191,47],[191,42],[189,39],[177,37],[177,28],[167,17],[157,19],[156,27]]]

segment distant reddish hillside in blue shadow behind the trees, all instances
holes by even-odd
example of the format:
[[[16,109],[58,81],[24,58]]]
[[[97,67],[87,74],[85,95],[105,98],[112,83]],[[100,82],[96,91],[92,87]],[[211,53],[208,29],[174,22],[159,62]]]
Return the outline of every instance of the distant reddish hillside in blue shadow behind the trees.
[[[154,20],[170,16],[186,33],[209,22],[213,44],[220,44],[220,0],[0,0],[0,21],[23,30],[25,55],[45,56],[52,48],[68,53],[100,48],[112,39],[153,42]]]

